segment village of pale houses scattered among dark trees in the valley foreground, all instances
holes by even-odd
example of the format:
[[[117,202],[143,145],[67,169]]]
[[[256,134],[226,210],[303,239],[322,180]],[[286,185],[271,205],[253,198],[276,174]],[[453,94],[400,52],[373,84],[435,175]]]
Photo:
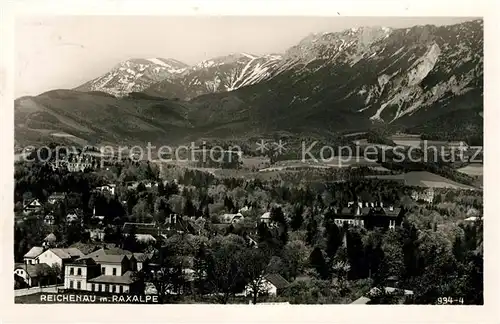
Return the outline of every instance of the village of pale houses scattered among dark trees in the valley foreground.
[[[314,289],[326,303],[432,300],[411,280],[425,276],[426,266],[394,268],[390,260],[400,257],[388,254],[391,246],[405,235],[431,235],[413,241],[413,255],[423,257],[424,245],[445,237],[458,249],[482,213],[474,191],[377,178],[296,187],[172,167],[160,179],[147,162],[18,167],[19,302],[49,291],[154,295],[164,303],[307,303],[317,302]],[[463,234],[450,237],[450,226]]]

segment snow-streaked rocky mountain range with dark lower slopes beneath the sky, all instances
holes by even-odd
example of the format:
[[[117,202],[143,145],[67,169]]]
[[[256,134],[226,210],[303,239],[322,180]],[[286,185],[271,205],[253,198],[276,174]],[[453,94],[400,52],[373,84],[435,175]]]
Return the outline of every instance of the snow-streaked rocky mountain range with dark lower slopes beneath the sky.
[[[482,138],[483,56],[474,20],[310,34],[282,54],[194,66],[131,59],[76,89],[16,99],[15,138],[168,144],[380,126]]]

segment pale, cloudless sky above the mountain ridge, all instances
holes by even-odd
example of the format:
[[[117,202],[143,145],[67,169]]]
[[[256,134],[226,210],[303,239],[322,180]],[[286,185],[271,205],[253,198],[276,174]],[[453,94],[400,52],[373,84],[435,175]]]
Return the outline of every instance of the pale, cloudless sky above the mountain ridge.
[[[229,53],[283,53],[310,33],[447,25],[470,17],[52,16],[15,24],[15,97],[71,89],[130,58],[196,64]]]

